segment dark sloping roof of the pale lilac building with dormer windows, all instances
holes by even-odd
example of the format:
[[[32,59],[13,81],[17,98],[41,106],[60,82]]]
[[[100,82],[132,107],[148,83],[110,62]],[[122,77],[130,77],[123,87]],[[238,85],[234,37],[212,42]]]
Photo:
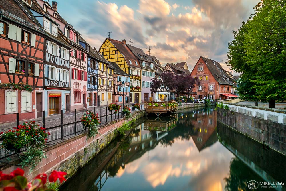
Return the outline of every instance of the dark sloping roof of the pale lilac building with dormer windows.
[[[127,46],[133,52],[133,54],[138,58],[138,60],[141,61],[140,64],[142,64],[143,61],[145,62],[145,67],[142,65],[142,69],[156,71],[154,66],[153,66],[153,68],[150,67],[151,63],[153,65],[156,63],[150,57],[148,57],[148,55],[145,54],[145,52],[141,48],[137,48],[137,47],[132,46],[130,44],[127,44]]]

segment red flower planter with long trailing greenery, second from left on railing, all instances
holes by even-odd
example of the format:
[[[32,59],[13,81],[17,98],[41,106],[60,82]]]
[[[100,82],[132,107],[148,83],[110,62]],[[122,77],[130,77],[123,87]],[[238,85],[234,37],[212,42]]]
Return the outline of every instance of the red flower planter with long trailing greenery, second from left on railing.
[[[84,129],[88,129],[88,138],[94,137],[98,134],[97,125],[100,124],[98,114],[94,114],[91,111],[87,111],[80,119]]]

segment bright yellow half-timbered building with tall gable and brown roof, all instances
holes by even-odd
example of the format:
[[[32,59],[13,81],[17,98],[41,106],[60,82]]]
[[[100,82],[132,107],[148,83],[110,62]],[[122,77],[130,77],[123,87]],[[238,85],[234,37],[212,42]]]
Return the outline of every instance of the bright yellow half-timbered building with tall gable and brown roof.
[[[106,38],[99,52],[107,61],[115,62],[124,72],[130,74],[130,97],[126,96],[124,103],[139,103],[142,68],[136,56],[126,46],[126,40]]]

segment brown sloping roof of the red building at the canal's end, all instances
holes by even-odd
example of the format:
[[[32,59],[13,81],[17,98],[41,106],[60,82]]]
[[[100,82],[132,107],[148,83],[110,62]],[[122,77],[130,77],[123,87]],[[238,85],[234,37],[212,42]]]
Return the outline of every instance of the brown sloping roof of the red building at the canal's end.
[[[235,83],[228,80],[229,75],[217,61],[209,59],[209,58],[205,58],[203,56],[201,57],[204,60],[208,69],[210,70],[210,73],[212,74],[212,76],[214,76],[215,80],[219,84],[236,86]]]

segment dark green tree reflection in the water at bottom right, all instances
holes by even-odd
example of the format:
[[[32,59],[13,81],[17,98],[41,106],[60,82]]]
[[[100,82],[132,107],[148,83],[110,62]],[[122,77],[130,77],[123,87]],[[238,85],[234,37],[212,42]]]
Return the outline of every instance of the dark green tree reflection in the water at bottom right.
[[[226,182],[225,190],[249,190],[247,182],[255,180],[257,182],[264,181],[251,168],[238,158],[232,158],[229,166],[229,177],[224,178]],[[266,188],[267,189],[267,188]],[[270,188],[268,188],[270,190]]]

